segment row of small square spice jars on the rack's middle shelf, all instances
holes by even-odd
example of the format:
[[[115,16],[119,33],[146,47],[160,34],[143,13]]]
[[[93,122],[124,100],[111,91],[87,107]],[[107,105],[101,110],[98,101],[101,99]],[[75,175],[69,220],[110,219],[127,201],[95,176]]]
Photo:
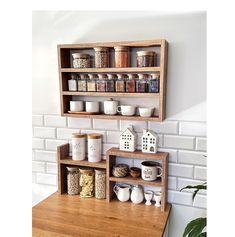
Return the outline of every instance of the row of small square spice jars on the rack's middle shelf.
[[[116,76],[117,75],[117,76]],[[159,92],[160,74],[71,74],[69,91]]]

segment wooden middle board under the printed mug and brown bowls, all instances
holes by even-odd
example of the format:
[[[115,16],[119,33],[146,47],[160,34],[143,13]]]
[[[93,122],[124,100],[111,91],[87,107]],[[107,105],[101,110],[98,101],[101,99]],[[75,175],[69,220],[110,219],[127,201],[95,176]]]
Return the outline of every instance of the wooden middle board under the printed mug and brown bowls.
[[[119,182],[119,183],[129,183],[129,184],[138,184],[138,185],[150,185],[150,186],[162,186],[161,179],[156,181],[145,181],[142,178],[133,178],[130,175],[123,177],[123,178],[117,178],[114,176],[109,177],[109,181],[113,182]]]

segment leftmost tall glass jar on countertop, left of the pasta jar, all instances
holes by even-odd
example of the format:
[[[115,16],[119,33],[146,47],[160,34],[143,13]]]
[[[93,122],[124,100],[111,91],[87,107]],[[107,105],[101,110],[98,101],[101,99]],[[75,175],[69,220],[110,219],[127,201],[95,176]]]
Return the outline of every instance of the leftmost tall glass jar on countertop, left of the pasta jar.
[[[67,169],[67,190],[69,195],[76,195],[80,192],[79,168],[66,167]]]

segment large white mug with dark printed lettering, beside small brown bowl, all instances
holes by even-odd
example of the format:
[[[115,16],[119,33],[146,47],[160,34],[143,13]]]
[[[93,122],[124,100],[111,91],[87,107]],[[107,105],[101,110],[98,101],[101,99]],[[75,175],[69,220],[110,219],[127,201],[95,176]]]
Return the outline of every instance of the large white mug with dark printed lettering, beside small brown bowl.
[[[158,172],[159,171],[159,172]],[[155,161],[143,161],[141,163],[141,178],[146,181],[154,181],[162,176],[162,167]]]

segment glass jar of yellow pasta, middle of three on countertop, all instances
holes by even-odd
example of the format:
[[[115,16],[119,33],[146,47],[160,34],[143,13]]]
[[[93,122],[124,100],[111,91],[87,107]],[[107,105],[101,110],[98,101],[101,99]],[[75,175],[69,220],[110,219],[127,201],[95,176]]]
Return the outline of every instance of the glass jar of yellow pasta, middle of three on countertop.
[[[80,168],[80,181],[81,197],[93,197],[94,196],[94,171],[89,168]]]

